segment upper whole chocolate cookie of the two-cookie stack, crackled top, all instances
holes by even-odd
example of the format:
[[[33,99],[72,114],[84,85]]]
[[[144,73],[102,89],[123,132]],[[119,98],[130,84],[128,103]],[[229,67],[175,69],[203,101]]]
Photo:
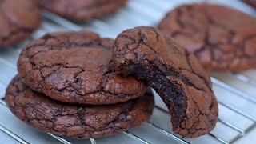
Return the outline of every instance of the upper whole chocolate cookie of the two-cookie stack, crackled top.
[[[46,34],[22,50],[18,72],[31,89],[62,102],[98,105],[137,98],[147,86],[114,71],[113,43],[90,31]]]

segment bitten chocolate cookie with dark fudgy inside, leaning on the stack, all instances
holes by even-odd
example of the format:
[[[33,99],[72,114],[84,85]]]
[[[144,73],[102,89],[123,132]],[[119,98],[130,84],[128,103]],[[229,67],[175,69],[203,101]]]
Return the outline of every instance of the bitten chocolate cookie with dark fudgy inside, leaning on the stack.
[[[145,80],[162,97],[175,133],[208,134],[218,120],[210,78],[194,54],[151,27],[125,30],[114,42],[113,62],[122,74]]]

